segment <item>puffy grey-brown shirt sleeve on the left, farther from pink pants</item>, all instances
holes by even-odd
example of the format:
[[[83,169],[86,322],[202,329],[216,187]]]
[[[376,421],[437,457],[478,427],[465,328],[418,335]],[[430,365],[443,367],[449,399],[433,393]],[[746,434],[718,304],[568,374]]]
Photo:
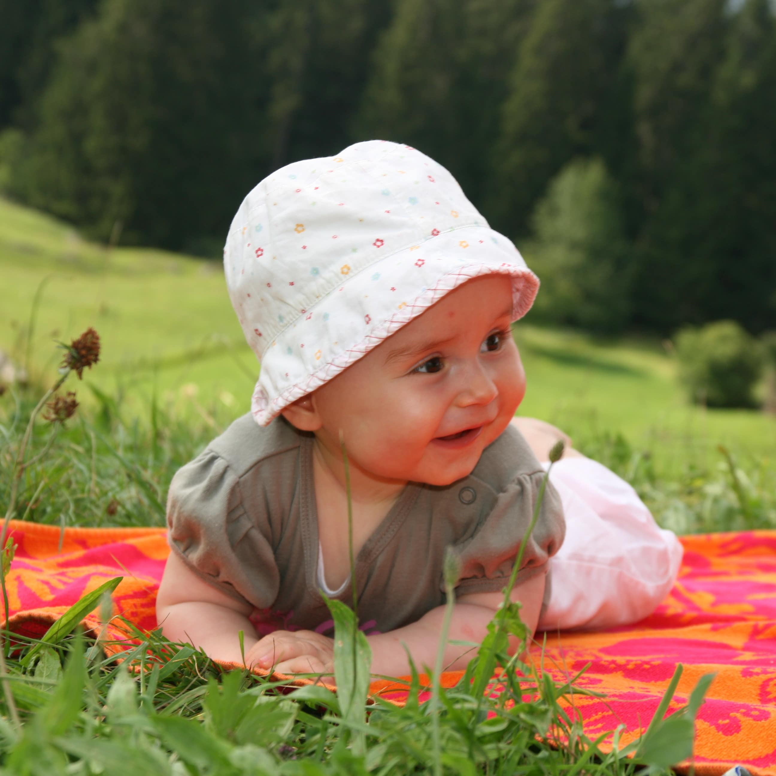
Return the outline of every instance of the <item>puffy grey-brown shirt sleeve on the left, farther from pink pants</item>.
[[[265,515],[249,514],[240,480],[206,449],[172,478],[167,500],[168,542],[204,580],[238,601],[272,606],[279,590]]]

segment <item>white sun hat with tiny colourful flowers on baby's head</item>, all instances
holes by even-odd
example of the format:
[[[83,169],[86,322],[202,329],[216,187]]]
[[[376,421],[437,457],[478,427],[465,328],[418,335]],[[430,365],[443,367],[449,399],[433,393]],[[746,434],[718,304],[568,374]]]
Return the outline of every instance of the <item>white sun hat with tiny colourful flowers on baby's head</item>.
[[[386,140],[265,178],[237,210],[223,263],[262,364],[251,401],[262,426],[469,279],[510,275],[512,320],[539,289],[442,165]]]

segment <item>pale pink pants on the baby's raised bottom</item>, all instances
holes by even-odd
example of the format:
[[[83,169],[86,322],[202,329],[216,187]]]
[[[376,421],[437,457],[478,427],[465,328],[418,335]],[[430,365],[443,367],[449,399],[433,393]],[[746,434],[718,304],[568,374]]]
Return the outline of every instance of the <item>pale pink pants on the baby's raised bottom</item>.
[[[550,481],[563,501],[566,539],[549,560],[539,630],[611,628],[650,615],[679,571],[683,550],[674,532],[592,459],[560,460]]]

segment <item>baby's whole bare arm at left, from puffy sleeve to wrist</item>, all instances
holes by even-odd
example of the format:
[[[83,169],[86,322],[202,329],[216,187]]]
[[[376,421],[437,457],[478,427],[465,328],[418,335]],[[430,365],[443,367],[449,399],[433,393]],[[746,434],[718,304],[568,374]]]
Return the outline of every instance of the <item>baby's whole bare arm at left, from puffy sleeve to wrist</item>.
[[[242,664],[239,631],[245,653],[258,639],[248,619],[252,607],[208,584],[170,553],[156,599],[161,632],[171,641],[188,642],[216,660]]]

